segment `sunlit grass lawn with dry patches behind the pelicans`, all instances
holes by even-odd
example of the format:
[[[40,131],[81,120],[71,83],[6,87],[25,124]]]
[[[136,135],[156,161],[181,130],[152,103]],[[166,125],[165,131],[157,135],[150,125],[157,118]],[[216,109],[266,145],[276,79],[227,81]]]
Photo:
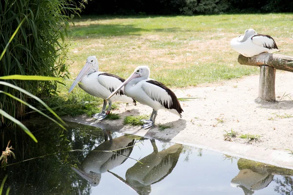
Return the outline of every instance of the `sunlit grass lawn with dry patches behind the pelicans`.
[[[100,71],[122,78],[137,66],[148,65],[150,77],[171,88],[258,74],[257,67],[238,64],[238,53],[230,48],[230,40],[249,28],[271,35],[279,54],[293,55],[292,14],[82,16],[74,22],[66,39],[71,45],[68,62],[73,78],[88,56],[97,57]],[[60,86],[61,95],[67,97],[71,83]],[[75,103],[102,102],[79,87],[67,98]]]

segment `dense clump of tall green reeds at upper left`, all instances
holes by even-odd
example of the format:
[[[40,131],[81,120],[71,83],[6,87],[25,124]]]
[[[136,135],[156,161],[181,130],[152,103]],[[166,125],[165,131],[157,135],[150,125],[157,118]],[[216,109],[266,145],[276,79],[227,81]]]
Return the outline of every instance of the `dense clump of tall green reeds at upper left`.
[[[39,75],[68,78],[65,61],[68,52],[63,42],[75,11],[71,0],[5,0],[0,2],[0,75]],[[16,29],[18,29],[16,33]],[[5,52],[6,51],[6,52]],[[4,53],[5,52],[5,53]],[[6,80],[39,97],[56,94],[60,81]],[[33,99],[9,86],[4,91],[27,102]],[[25,105],[0,94],[0,109],[20,118]],[[0,126],[7,121],[2,117]]]

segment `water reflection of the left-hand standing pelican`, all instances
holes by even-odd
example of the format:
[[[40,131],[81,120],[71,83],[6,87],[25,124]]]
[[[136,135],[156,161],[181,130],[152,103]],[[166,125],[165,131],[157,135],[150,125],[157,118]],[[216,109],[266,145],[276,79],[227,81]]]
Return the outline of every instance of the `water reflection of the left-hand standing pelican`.
[[[94,150],[88,153],[81,163],[80,168],[72,169],[86,179],[92,186],[97,186],[100,183],[102,173],[107,170],[114,169],[126,161],[130,156],[134,145],[135,139],[133,137],[121,136],[118,138],[106,140],[96,147]],[[126,148],[127,147],[127,148]],[[124,148],[122,150],[119,150]],[[115,152],[103,152],[113,151]]]

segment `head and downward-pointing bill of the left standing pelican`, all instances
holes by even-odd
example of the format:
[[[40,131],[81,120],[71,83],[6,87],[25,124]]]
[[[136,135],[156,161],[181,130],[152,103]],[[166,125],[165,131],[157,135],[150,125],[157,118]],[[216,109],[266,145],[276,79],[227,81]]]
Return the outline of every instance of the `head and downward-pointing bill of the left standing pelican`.
[[[88,73],[96,72],[96,71],[99,71],[98,59],[96,58],[96,56],[90,56],[86,59],[83,69],[75,78],[68,93],[70,93],[74,89],[74,87],[84,78],[85,75],[87,75]]]

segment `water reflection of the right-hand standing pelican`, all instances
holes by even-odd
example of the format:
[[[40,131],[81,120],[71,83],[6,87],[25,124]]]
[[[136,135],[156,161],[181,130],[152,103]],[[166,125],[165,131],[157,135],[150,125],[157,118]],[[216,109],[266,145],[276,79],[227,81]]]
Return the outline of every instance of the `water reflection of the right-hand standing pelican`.
[[[121,176],[111,173],[135,190],[139,195],[148,195],[151,184],[160,182],[167,177],[176,166],[183,146],[175,144],[158,152],[155,140],[151,140],[153,152],[137,162],[126,171],[126,180]]]

